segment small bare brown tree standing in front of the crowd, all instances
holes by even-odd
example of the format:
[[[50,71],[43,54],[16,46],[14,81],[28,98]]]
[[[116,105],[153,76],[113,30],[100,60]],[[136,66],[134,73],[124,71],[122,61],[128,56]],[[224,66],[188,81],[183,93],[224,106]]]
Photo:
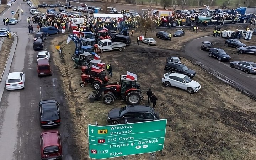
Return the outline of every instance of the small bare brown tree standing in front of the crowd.
[[[138,22],[140,23],[140,29],[145,33],[144,37],[146,37],[149,31],[154,30],[156,26],[156,23],[150,17],[140,18]]]

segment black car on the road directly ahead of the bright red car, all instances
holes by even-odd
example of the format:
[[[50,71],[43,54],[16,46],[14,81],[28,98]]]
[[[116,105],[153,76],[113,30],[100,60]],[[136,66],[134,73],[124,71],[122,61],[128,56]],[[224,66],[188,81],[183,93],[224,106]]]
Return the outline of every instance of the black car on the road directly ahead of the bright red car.
[[[60,125],[59,103],[55,100],[44,100],[38,104],[40,110],[41,127],[55,127]]]

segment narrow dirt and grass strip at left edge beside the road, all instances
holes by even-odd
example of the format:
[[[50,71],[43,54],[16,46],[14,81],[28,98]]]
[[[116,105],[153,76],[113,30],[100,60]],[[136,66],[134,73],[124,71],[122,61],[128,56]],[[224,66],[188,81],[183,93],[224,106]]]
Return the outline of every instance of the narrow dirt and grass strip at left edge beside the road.
[[[11,37],[11,39],[5,39],[3,44],[2,44],[2,48],[0,48],[0,55],[1,55],[1,59],[0,59],[0,76],[2,75],[3,71],[4,71],[4,67],[5,67],[5,63],[6,60],[8,58],[9,52],[10,52],[10,48],[12,46],[12,42],[13,42],[13,37]]]

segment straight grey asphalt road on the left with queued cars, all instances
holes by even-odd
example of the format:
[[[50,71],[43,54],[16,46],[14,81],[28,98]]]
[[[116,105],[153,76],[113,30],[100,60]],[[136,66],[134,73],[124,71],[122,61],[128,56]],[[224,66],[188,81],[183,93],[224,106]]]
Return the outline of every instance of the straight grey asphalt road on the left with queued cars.
[[[3,96],[0,97],[0,159],[40,159],[39,136],[43,129],[40,128],[40,113],[37,105],[40,100],[55,99],[61,104],[62,124],[55,129],[62,134],[63,160],[78,160],[79,155],[76,154],[75,142],[71,134],[74,133],[73,123],[61,89],[60,73],[51,62],[52,76],[42,78],[37,76],[37,52],[33,50],[34,33],[28,33],[26,20],[30,15],[29,6],[23,0],[17,0],[14,6],[0,15],[0,18],[11,18],[11,11],[16,11],[19,6],[24,10],[24,15],[18,24],[9,26],[0,24],[0,28],[9,28],[18,36],[10,72],[25,73],[24,90],[4,90]],[[5,79],[2,79],[0,85],[5,85]]]

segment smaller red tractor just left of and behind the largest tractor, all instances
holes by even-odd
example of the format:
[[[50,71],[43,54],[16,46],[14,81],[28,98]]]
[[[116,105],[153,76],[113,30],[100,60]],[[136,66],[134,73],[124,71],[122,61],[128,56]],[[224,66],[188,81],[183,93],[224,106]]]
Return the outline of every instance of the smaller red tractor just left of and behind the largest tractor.
[[[93,69],[89,74],[81,74],[81,87],[85,87],[86,83],[92,84],[95,90],[100,89],[101,84],[108,83],[109,78],[106,75],[105,69]]]

